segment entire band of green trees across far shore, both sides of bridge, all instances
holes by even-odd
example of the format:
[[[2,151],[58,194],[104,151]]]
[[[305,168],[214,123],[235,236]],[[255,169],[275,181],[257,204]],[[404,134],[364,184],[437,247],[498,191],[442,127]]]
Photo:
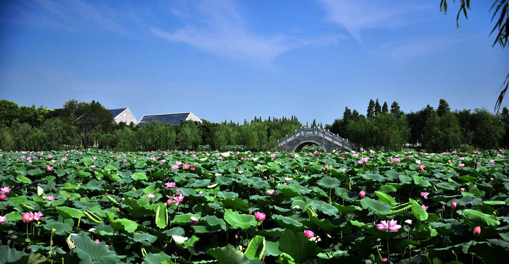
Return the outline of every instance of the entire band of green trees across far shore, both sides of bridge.
[[[61,109],[35,106],[18,107],[0,100],[0,149],[63,150],[76,146],[99,146],[119,151],[222,150],[238,145],[243,150],[275,151],[277,140],[302,125],[291,118],[254,117],[243,124],[230,121],[202,123],[181,121],[180,126],[151,123],[145,126],[116,124],[100,103],[67,101]],[[322,127],[316,120],[310,127]],[[408,144],[419,150],[489,150],[509,146],[509,110],[494,115],[486,109],[451,111],[440,100],[435,110],[427,106],[404,113],[397,102],[390,109],[386,102],[371,100],[366,115],[346,107],[343,118],[325,129],[349,139],[359,149],[399,151]],[[203,146],[208,146],[204,148]]]

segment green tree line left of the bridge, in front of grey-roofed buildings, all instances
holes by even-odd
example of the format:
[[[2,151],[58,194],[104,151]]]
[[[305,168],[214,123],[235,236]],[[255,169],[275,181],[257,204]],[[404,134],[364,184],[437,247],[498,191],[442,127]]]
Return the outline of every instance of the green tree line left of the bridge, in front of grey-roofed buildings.
[[[135,125],[114,122],[111,112],[99,102],[71,99],[59,109],[18,106],[0,100],[1,150],[62,150],[78,146],[119,151],[197,150],[202,145],[224,150],[240,145],[244,150],[276,150],[277,140],[300,129],[296,116],[289,119],[255,116],[244,124],[225,120],[202,123],[181,120],[180,126],[157,122]]]

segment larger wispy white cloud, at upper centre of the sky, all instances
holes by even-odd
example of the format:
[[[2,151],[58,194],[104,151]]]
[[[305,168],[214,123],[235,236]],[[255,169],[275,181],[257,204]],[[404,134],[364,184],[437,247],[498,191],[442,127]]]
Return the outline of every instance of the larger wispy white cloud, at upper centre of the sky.
[[[275,57],[292,49],[310,45],[330,45],[338,36],[296,37],[288,34],[261,35],[248,30],[238,7],[229,1],[205,1],[193,6],[172,9],[185,26],[164,30],[151,28],[155,36],[182,42],[221,57],[271,67]]]

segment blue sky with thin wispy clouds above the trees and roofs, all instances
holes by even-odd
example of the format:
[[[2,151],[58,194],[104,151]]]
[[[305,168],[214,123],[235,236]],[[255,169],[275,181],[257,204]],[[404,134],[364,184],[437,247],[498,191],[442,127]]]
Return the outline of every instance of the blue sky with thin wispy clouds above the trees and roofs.
[[[439,0],[7,0],[0,99],[241,124],[332,124],[370,99],[493,112],[509,70],[509,48],[489,36],[493,1],[471,2],[460,27],[448,2],[445,15]]]

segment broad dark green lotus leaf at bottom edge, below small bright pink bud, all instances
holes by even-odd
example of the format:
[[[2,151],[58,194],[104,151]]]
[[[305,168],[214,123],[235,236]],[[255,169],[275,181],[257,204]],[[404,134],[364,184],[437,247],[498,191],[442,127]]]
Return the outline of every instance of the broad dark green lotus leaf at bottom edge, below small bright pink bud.
[[[300,263],[323,251],[315,242],[306,238],[304,232],[294,233],[290,230],[281,234],[278,249],[289,254],[295,261]]]

